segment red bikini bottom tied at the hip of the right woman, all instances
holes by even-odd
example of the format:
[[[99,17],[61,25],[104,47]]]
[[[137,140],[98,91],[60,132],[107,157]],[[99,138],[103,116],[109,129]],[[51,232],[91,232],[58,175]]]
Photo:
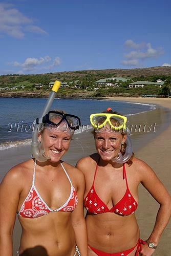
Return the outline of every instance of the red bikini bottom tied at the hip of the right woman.
[[[99,250],[93,248],[90,245],[89,245],[89,247],[98,256],[126,256],[126,255],[130,254],[135,249],[135,247],[137,246],[137,250],[136,250],[135,256],[138,256],[138,252],[141,251],[141,244],[145,244],[145,242],[143,240],[139,239],[138,243],[133,248],[125,250],[125,251],[121,251],[121,252],[116,252],[116,253],[107,253],[107,252],[99,251]]]

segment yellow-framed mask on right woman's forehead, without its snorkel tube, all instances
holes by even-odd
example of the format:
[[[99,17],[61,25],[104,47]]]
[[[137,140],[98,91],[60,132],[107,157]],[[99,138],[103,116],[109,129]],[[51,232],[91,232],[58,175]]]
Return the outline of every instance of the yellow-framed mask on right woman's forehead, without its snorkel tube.
[[[117,114],[99,113],[90,115],[90,122],[96,129],[101,129],[106,125],[106,123],[109,123],[111,129],[114,131],[125,131],[126,121],[127,118],[125,116]]]

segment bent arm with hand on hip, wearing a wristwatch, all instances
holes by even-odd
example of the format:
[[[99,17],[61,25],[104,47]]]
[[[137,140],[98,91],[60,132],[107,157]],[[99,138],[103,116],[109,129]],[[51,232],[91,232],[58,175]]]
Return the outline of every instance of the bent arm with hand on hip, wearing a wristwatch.
[[[160,204],[156,222],[152,233],[150,234],[148,241],[158,244],[163,230],[165,229],[171,214],[171,198],[158,179],[151,167],[144,162],[139,165],[139,171],[141,175],[142,185],[149,191],[154,199]],[[147,243],[142,245],[141,255],[151,256],[155,249],[148,247]]]

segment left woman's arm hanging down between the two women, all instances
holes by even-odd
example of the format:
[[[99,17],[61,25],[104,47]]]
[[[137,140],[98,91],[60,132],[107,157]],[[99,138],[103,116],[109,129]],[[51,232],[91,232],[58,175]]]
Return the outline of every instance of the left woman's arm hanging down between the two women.
[[[77,169],[75,176],[78,179],[77,196],[78,204],[72,212],[72,225],[75,231],[75,239],[81,256],[88,255],[87,229],[86,221],[83,214],[83,194],[84,194],[84,177],[80,170]]]

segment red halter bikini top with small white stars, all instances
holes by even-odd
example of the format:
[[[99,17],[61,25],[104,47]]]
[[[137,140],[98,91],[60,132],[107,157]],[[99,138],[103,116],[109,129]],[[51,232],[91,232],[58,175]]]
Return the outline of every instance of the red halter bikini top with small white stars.
[[[84,199],[84,206],[86,207],[88,212],[90,212],[91,214],[103,214],[104,212],[114,212],[114,214],[121,216],[133,214],[134,211],[137,209],[138,204],[131,195],[129,187],[127,185],[125,165],[123,164],[123,179],[125,179],[126,181],[126,192],[122,199],[111,209],[109,209],[108,206],[106,206],[106,204],[103,203],[102,200],[96,194],[94,188],[94,181],[97,173],[97,167],[98,164],[95,170],[93,185],[89,193],[87,194],[86,198]]]

